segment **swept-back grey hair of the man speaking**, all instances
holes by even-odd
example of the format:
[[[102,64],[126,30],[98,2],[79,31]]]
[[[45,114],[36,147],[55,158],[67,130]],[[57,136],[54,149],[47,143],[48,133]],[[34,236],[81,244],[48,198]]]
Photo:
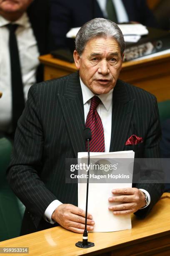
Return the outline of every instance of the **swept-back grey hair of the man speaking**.
[[[125,40],[122,31],[111,20],[104,18],[95,18],[87,21],[78,31],[75,37],[75,49],[79,55],[85,49],[85,46],[89,40],[95,37],[111,37],[114,38],[120,46],[121,56],[125,51]]]

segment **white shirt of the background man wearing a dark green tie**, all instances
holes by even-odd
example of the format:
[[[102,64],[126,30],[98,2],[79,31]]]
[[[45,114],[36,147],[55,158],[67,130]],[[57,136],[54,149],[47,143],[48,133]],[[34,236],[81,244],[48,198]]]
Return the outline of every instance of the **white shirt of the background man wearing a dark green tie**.
[[[107,0],[97,0],[105,18],[107,18],[106,1]],[[122,0],[112,0],[112,2],[115,7],[118,23],[128,22],[128,14],[126,12],[125,6],[122,3]]]

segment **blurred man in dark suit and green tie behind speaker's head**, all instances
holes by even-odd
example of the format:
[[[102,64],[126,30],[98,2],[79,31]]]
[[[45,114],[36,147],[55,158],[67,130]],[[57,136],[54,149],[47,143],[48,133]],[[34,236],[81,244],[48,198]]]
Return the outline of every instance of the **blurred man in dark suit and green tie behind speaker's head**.
[[[108,18],[115,23],[136,21],[156,27],[153,13],[146,0],[51,0],[51,30],[57,48],[71,48],[66,38],[70,28],[81,27],[93,18]]]

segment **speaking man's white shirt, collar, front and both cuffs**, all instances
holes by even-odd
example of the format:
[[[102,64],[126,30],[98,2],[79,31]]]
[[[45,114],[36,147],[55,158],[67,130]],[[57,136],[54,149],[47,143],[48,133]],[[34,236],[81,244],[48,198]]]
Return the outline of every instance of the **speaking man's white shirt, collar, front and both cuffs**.
[[[83,98],[84,114],[85,114],[85,121],[86,121],[87,114],[90,109],[91,98],[95,94],[92,91],[90,91],[90,89],[82,82],[81,78],[80,78],[80,84],[82,89],[82,98]],[[112,128],[112,92],[113,92],[113,89],[110,90],[110,92],[108,92],[107,94],[97,95],[102,101],[102,103],[98,105],[96,110],[102,120],[104,136],[105,136],[105,152],[109,152],[109,149],[110,149],[111,128]],[[141,189],[141,190],[148,196],[148,201],[149,201],[148,205],[149,205],[150,204],[149,193],[145,189]],[[50,205],[45,210],[44,219],[47,220],[49,223],[54,224],[55,221],[51,219],[52,213],[61,204],[62,202],[60,202],[59,200],[54,200],[53,202],[51,202]]]

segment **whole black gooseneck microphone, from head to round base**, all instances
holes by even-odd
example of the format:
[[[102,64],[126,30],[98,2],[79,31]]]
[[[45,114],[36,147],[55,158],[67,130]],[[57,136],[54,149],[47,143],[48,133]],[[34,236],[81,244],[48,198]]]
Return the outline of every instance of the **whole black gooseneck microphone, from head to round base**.
[[[90,128],[85,128],[83,131],[83,137],[85,141],[87,141],[87,148],[88,148],[88,166],[90,164],[90,147],[89,147],[89,141],[92,138],[92,133]],[[90,169],[90,168],[89,168]],[[87,232],[87,206],[88,206],[88,187],[89,187],[89,169],[87,172],[87,191],[86,191],[86,208],[85,208],[85,230],[82,236],[82,241],[78,241],[75,246],[79,248],[89,248],[92,246],[95,246],[94,243],[88,242],[88,232]]]

